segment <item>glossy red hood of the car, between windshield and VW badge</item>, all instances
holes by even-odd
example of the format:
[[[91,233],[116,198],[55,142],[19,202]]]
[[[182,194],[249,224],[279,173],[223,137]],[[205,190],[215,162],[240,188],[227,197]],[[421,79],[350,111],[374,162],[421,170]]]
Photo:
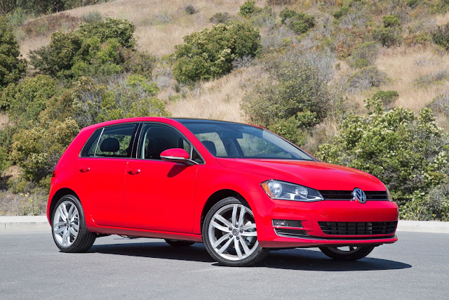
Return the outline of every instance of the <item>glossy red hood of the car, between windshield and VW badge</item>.
[[[316,190],[385,190],[384,184],[373,175],[326,162],[241,158],[217,158],[217,161],[223,167],[267,176],[267,180],[288,181]]]

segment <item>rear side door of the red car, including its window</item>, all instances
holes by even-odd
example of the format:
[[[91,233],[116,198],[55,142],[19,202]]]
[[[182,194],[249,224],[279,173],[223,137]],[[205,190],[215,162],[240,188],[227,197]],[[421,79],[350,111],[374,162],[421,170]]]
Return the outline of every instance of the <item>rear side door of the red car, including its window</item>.
[[[125,172],[137,129],[137,123],[98,129],[76,163],[79,197],[98,225],[125,226]]]

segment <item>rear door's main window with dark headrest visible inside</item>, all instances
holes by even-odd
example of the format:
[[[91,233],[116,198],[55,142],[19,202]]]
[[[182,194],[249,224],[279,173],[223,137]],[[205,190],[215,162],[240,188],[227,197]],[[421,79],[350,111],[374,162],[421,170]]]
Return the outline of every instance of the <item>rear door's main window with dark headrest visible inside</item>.
[[[95,157],[131,157],[137,126],[133,123],[105,127],[95,146]]]

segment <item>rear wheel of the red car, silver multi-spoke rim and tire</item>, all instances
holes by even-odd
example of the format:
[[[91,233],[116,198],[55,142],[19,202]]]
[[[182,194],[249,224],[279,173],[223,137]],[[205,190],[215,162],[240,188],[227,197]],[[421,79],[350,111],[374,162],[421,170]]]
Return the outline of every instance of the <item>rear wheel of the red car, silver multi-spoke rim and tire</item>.
[[[86,252],[95,242],[97,235],[87,229],[83,207],[74,195],[58,200],[51,220],[53,240],[62,252]]]

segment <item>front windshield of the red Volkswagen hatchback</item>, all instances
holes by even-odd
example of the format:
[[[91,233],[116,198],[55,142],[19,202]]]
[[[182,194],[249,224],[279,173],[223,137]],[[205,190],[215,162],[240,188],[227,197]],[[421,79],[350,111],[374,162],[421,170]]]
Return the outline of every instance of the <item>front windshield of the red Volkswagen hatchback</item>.
[[[180,122],[215,157],[314,160],[265,129],[225,122]]]

